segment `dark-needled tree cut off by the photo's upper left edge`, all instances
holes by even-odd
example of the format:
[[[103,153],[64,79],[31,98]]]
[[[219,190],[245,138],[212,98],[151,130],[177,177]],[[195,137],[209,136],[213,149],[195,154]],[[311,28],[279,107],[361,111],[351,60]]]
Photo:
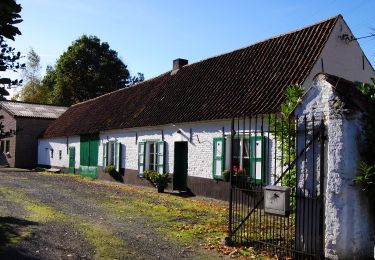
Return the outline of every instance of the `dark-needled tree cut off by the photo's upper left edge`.
[[[21,53],[9,46],[6,39],[13,40],[16,35],[21,32],[15,26],[22,22],[21,5],[17,4],[15,0],[1,0],[0,1],[0,72],[1,71],[17,71],[24,67],[24,64],[19,63]],[[10,78],[0,77],[0,99],[5,99],[4,96],[9,95],[6,88],[18,85],[21,82],[18,80],[11,80]]]

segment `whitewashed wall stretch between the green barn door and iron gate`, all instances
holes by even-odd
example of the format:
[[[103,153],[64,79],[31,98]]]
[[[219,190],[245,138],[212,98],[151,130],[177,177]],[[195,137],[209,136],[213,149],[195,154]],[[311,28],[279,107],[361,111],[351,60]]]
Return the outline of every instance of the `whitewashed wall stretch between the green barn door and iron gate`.
[[[117,140],[122,144],[122,168],[138,169],[138,142],[147,140],[162,140],[166,142],[166,168],[173,172],[174,142],[188,142],[188,173],[189,176],[212,178],[213,138],[230,134],[230,121],[195,122],[178,125],[164,125],[152,128],[138,128],[129,130],[111,130],[100,134],[99,166],[103,165],[103,144],[107,141]],[[189,142],[190,128],[192,129],[192,142]],[[180,130],[182,134],[177,133]]]

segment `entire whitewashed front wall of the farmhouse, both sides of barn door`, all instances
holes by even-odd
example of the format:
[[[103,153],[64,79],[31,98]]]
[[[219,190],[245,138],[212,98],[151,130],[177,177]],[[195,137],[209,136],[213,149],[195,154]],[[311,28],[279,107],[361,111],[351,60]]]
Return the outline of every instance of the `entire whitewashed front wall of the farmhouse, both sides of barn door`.
[[[258,120],[257,131],[260,131],[260,122]],[[245,125],[248,132],[249,122]],[[255,121],[251,123],[252,131],[255,127]],[[190,139],[190,128],[192,129],[192,142]],[[138,143],[137,141],[147,140],[162,140],[162,131],[164,141],[166,142],[166,172],[173,172],[174,167],[174,142],[187,141],[188,142],[188,175],[194,177],[202,177],[212,179],[212,164],[213,164],[213,138],[230,135],[231,121],[206,121],[206,122],[193,122],[178,125],[164,125],[150,128],[134,128],[123,130],[110,130],[100,133],[99,149],[98,149],[98,165],[103,166],[103,144],[108,141],[117,140],[121,143],[121,167],[131,170],[138,170]],[[237,128],[237,126],[236,126]],[[180,130],[180,133],[177,131]],[[267,131],[267,124],[264,123],[264,130]],[[243,132],[243,124],[240,123],[240,128],[236,129],[239,133]],[[258,132],[257,135],[260,135]],[[273,135],[264,133],[267,137],[267,183],[273,183],[274,179],[272,173],[281,172],[280,162],[276,161],[274,157],[274,143]],[[136,141],[137,136],[137,141]],[[38,147],[38,163],[42,165],[50,165],[52,167],[66,167],[69,166],[69,158],[66,153],[66,137],[40,139]],[[76,168],[79,168],[79,136],[69,137],[69,146],[76,147]],[[48,150],[46,150],[48,149]],[[50,149],[54,149],[54,158],[50,158]],[[59,150],[63,151],[61,160],[58,158]],[[48,151],[48,154],[47,152]],[[229,165],[229,147],[226,147],[227,165]],[[228,166],[226,168],[229,168]],[[275,169],[276,168],[276,169]]]

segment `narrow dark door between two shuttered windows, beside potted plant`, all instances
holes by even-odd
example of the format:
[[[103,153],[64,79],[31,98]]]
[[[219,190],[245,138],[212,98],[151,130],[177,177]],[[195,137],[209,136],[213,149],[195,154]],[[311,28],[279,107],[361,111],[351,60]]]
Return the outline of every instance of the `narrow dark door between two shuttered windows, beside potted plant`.
[[[188,143],[174,143],[173,189],[186,190],[188,175]]]

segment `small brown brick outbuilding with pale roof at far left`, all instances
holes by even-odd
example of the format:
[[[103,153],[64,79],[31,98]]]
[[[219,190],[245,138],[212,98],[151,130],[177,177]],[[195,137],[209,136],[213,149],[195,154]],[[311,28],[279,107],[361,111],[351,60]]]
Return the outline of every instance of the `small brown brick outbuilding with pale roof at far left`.
[[[0,140],[0,165],[17,168],[37,166],[38,137],[67,107],[0,101],[3,132]]]

